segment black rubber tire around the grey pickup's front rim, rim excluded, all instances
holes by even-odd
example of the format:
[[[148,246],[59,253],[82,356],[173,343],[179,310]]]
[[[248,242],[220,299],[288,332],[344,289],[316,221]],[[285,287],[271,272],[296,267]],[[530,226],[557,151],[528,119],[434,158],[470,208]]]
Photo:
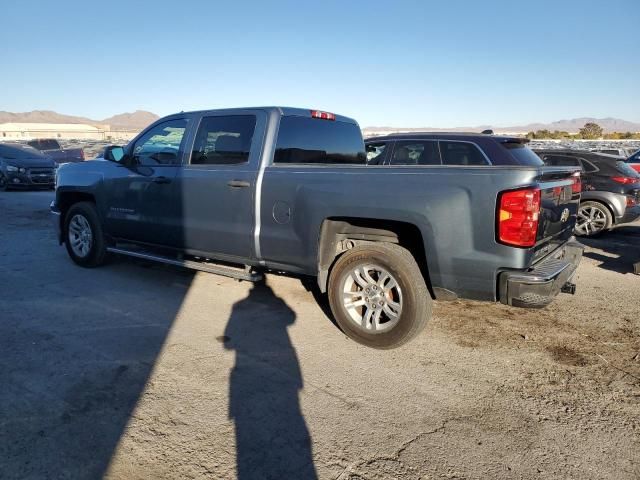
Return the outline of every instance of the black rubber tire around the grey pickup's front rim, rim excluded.
[[[69,224],[74,217],[84,218],[91,229],[92,240],[85,255],[80,255],[72,246],[74,234],[69,231]],[[77,265],[86,268],[98,267],[106,262],[107,243],[104,238],[102,224],[98,217],[96,207],[91,202],[79,202],[72,205],[64,219],[64,243],[67,253]]]

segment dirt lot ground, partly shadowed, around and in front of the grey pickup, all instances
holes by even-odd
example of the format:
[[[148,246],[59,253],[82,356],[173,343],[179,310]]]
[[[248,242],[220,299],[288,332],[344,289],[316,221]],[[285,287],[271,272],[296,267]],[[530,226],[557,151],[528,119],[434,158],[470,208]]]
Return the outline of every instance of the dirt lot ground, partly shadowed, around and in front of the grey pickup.
[[[640,478],[640,223],[380,352],[298,279],[78,268],[52,196],[0,193],[0,478]]]

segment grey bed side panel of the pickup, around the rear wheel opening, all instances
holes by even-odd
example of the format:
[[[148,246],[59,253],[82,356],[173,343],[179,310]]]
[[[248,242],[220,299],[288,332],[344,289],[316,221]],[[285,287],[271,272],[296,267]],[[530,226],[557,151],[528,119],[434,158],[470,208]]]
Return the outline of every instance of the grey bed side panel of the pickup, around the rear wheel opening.
[[[262,257],[315,275],[325,219],[403,221],[421,232],[433,287],[495,299],[497,271],[525,268],[533,258],[533,250],[496,242],[497,193],[534,184],[536,176],[534,167],[513,166],[269,166]],[[281,215],[287,210],[288,219]]]

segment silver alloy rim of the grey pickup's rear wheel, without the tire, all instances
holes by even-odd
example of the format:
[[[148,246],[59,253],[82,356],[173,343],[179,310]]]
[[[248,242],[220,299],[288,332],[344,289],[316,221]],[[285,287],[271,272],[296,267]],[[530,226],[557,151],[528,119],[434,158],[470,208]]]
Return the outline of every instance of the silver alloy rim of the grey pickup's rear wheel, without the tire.
[[[358,265],[342,284],[344,308],[367,333],[393,328],[402,313],[402,290],[393,275],[378,265]]]

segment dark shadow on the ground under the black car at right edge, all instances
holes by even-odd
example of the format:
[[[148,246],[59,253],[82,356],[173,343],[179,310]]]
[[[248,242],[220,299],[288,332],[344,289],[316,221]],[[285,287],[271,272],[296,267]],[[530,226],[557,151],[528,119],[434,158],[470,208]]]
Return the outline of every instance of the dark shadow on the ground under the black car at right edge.
[[[617,273],[633,273],[640,262],[640,225],[623,225],[595,238],[580,238],[588,247],[602,250],[584,252],[584,256],[600,262],[599,267]]]

